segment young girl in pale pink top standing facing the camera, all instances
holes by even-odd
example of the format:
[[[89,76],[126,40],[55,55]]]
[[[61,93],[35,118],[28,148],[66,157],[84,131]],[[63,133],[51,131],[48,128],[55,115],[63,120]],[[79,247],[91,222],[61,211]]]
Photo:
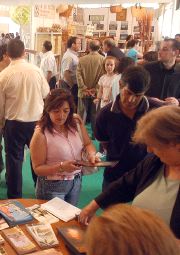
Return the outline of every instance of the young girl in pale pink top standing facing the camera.
[[[117,59],[112,56],[108,56],[104,60],[104,69],[106,74],[100,77],[98,85],[99,90],[96,99],[94,99],[95,104],[99,104],[100,108],[109,104],[112,101],[112,84],[117,78],[116,74]]]

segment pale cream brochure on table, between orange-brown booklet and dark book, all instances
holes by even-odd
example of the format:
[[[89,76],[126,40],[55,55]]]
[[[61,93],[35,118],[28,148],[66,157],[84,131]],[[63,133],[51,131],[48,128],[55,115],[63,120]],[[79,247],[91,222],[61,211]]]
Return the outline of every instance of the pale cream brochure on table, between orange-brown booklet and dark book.
[[[50,248],[59,244],[50,224],[37,223],[26,227],[41,248]]]

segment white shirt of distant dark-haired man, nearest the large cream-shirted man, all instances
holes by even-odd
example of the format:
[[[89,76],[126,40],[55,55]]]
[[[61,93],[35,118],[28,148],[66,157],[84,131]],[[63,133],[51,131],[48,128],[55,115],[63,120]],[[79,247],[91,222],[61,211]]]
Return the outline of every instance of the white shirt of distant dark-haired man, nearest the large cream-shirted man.
[[[43,71],[46,79],[48,72],[52,72],[51,77],[57,74],[56,59],[52,51],[47,51],[42,55],[40,69]]]

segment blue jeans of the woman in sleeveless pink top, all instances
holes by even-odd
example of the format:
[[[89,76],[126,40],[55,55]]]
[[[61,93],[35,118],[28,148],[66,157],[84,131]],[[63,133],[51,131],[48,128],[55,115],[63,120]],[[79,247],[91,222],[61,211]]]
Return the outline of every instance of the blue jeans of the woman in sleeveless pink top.
[[[64,181],[50,181],[39,176],[36,184],[36,198],[50,200],[59,197],[76,206],[81,192],[81,181],[81,174],[76,175],[74,180]]]

